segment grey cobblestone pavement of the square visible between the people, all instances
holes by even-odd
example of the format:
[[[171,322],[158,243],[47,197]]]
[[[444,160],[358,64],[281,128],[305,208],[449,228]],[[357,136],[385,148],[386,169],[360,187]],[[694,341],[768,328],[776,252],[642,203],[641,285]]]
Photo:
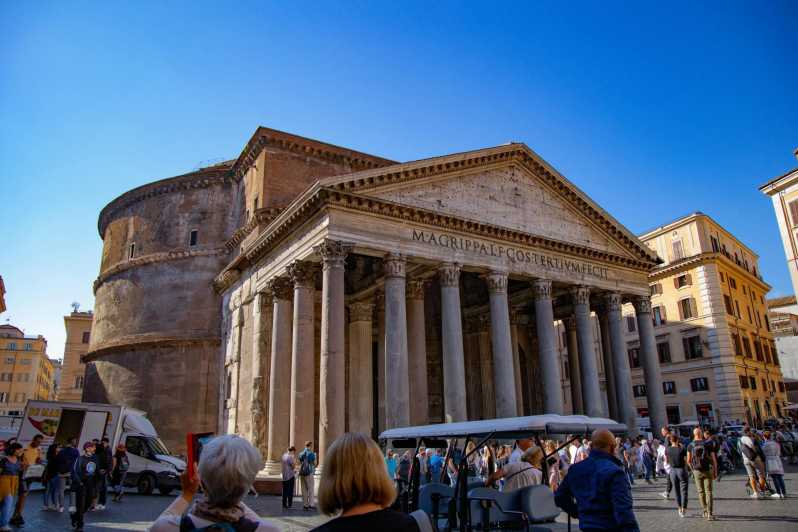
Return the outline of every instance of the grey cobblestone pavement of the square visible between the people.
[[[798,531],[797,466],[788,466],[785,480],[787,493],[795,494],[794,497],[786,500],[769,498],[753,500],[746,495],[745,477],[742,474],[724,477],[715,484],[715,513],[718,516],[718,521],[715,522],[707,522],[700,517],[701,511],[695,485],[692,482],[688,517],[682,519],[676,513],[676,503],[673,498],[665,500],[659,495],[664,490],[664,480],[659,480],[654,485],[638,481],[633,490],[635,514],[641,530],[644,531]],[[86,531],[146,530],[172,500],[173,496],[143,496],[130,493],[122,503],[109,501],[106,510],[89,513],[86,516]],[[27,524],[24,530],[69,530],[69,516],[66,513],[41,511],[41,502],[40,490],[30,494],[25,510]],[[248,497],[246,502],[259,515],[279,523],[286,532],[310,530],[325,520],[316,513],[303,511],[299,500],[295,503],[295,505],[298,503],[299,508],[288,511],[280,508],[279,497]],[[565,530],[565,519],[561,516],[558,521],[561,524],[554,528]],[[576,526],[573,529],[576,530]]]

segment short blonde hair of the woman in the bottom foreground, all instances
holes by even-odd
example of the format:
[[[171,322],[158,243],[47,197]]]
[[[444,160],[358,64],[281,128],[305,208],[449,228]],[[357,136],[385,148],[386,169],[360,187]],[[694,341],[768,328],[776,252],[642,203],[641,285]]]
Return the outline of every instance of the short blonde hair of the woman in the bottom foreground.
[[[319,510],[326,515],[365,503],[383,508],[393,504],[396,488],[374,440],[347,432],[330,445],[324,455],[318,499]]]

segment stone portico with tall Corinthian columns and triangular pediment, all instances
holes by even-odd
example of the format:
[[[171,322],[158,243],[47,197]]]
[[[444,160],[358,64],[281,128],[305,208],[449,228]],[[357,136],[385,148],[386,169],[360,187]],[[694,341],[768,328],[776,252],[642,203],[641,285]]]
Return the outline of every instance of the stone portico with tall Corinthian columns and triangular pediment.
[[[523,144],[319,179],[215,279],[219,428],[252,438],[275,473],[306,440],[323,465],[347,430],[544,412],[635,430],[625,302],[662,426],[658,260]]]

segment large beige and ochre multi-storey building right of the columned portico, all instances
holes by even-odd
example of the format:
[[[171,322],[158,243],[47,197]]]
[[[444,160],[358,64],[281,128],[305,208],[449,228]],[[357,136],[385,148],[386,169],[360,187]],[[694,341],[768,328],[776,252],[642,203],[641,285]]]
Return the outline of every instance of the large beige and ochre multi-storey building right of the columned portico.
[[[643,234],[665,262],[650,275],[668,419],[717,424],[781,416],[786,394],[758,257],[697,212]],[[636,406],[647,415],[637,324],[624,310]]]

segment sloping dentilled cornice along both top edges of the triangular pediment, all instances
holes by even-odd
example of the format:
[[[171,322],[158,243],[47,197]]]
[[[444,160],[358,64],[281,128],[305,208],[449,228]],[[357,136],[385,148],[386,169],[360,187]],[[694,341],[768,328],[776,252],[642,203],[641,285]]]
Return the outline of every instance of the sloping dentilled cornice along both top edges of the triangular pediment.
[[[348,176],[326,179],[322,181],[322,185],[329,186],[330,188],[342,192],[361,192],[425,177],[484,168],[485,166],[497,163],[515,163],[521,165],[526,170],[542,179],[569,205],[583,213],[608,236],[632,251],[637,258],[654,263],[661,262],[661,259],[642,244],[637,237],[612,218],[609,213],[594,204],[584,193],[579,191],[573,183],[544,164],[542,159],[534,154],[525,144],[513,143],[497,148],[436,157],[414,163],[394,165],[374,171],[353,173]]]

